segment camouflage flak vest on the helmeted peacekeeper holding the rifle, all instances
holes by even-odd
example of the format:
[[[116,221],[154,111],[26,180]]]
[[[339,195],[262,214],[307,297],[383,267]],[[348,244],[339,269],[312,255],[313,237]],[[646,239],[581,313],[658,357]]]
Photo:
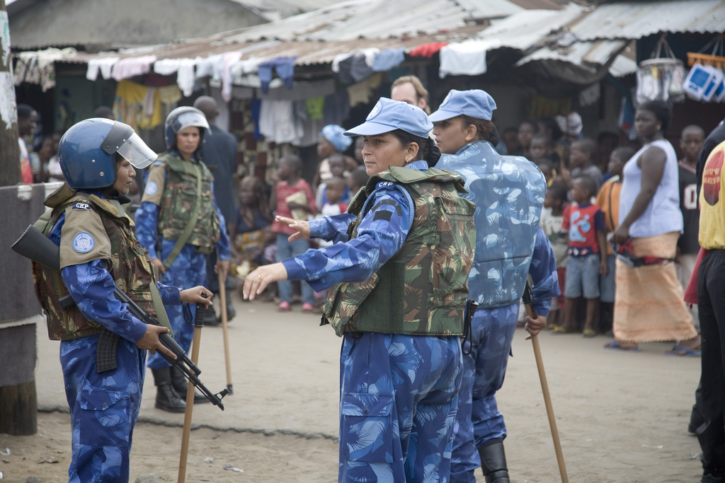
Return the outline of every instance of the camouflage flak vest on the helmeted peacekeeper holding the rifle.
[[[46,224],[46,227],[41,227],[43,235],[49,236],[60,215],[65,213],[67,206],[79,201],[88,203],[91,209],[101,217],[108,238],[111,240],[113,255],[110,260],[109,272],[117,287],[144,311],[155,317],[156,311],[149,287],[150,284],[155,283],[155,279],[148,251],[141,243],[138,243],[133,235],[133,222],[125,214],[119,216],[112,203],[85,193],[77,193],[75,196],[53,203],[53,206],[46,202],[53,208],[53,211],[50,222]],[[77,306],[74,305],[67,311],[61,308],[59,299],[67,295],[68,290],[63,284],[59,271],[51,270],[34,261],[32,268],[36,295],[43,308],[43,313],[46,314],[48,337],[51,340],[74,340],[101,332],[101,324],[86,319]]]

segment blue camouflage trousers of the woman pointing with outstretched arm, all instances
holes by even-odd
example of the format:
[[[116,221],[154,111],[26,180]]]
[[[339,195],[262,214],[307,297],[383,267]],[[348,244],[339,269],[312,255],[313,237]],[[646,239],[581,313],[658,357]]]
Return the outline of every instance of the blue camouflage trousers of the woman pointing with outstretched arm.
[[[339,482],[447,483],[459,337],[346,333]]]

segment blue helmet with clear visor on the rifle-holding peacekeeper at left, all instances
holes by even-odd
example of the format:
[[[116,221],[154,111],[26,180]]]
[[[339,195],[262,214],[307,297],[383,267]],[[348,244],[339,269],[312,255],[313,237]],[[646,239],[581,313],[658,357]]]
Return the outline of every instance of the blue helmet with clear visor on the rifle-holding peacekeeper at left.
[[[74,190],[112,186],[116,181],[116,153],[138,169],[157,158],[133,127],[123,122],[95,117],[72,125],[58,145],[65,182]]]

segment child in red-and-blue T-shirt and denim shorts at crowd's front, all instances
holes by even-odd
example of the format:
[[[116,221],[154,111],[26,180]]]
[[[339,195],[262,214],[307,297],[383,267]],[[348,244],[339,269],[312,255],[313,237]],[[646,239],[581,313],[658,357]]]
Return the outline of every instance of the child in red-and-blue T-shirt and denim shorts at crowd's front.
[[[573,146],[572,146],[573,150]],[[576,299],[584,293],[587,299],[587,319],[584,337],[594,337],[595,318],[599,311],[599,274],[608,272],[607,259],[600,259],[600,247],[605,247],[604,215],[599,206],[591,203],[597,185],[589,176],[573,180],[571,199],[574,201],[564,214],[563,230],[569,234],[569,259],[566,263],[566,305],[564,327],[557,332],[577,332],[579,324],[573,320]]]

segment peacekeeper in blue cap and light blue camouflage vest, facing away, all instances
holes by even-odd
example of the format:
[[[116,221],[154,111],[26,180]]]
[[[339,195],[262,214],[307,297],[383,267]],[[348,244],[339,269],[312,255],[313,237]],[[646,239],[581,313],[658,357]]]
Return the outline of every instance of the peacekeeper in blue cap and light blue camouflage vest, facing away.
[[[503,449],[506,426],[496,405],[518,318],[526,277],[533,280],[537,319],[526,319],[535,335],[546,327],[551,298],[559,295],[554,253],[539,227],[546,182],[528,159],[500,156],[496,103],[481,90],[452,90],[429,116],[443,156],[438,163],[465,178],[465,198],[476,203],[476,259],[468,277],[470,298],[479,303],[471,322],[471,351],[465,344],[463,386],[455,417],[452,483],[475,482],[482,467],[486,483],[508,483]],[[534,263],[532,263],[532,259]]]

